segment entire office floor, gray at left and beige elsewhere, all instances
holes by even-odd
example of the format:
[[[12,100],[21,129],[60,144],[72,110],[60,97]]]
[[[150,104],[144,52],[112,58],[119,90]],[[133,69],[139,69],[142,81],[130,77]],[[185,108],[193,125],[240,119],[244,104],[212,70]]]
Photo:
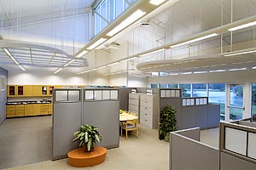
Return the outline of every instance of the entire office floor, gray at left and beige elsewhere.
[[[27,120],[26,120],[27,119]],[[27,164],[36,162],[36,159],[32,157],[32,153],[37,153],[36,155],[42,156],[42,159],[45,160],[47,157],[50,157],[51,154],[51,135],[50,126],[50,116],[45,117],[34,117],[34,118],[24,118],[23,120],[18,120],[18,122],[14,122],[14,120],[7,120],[8,122],[4,122],[5,124],[0,126],[0,147],[3,143],[8,141],[7,137],[5,137],[5,142],[3,141],[3,126],[9,126],[8,131],[13,135],[13,130],[20,131],[20,137],[15,137],[15,142],[11,142],[11,144],[7,144],[4,148],[15,148],[16,146],[20,148],[18,152],[16,150],[12,150],[12,156],[8,158],[0,157],[0,169],[5,167],[13,167],[26,164],[24,161],[18,161],[20,158],[24,158],[24,160],[28,160]],[[20,124],[21,123],[21,124]],[[32,127],[35,126],[35,127]],[[45,129],[43,127],[45,126]],[[13,128],[15,127],[15,128]],[[41,129],[42,127],[42,129]],[[35,133],[36,129],[38,129],[38,133]],[[21,134],[22,133],[22,134]],[[46,134],[49,133],[49,134]],[[209,133],[209,135],[208,135]],[[201,140],[207,144],[212,144],[212,146],[216,146],[216,134],[218,136],[218,130],[210,129],[201,132]],[[17,135],[17,133],[15,133]],[[43,138],[44,135],[46,138]],[[11,135],[9,135],[11,138]],[[19,136],[19,135],[18,135]],[[21,137],[22,136],[22,137]],[[48,136],[48,137],[47,137]],[[19,144],[21,139],[21,144]],[[47,141],[49,139],[50,141]],[[213,141],[212,141],[213,139]],[[28,142],[30,141],[30,142]],[[26,143],[22,145],[22,143]],[[29,144],[31,143],[31,144]],[[38,146],[36,146],[38,145]],[[48,148],[45,148],[46,145],[49,145]],[[2,147],[1,147],[2,148]],[[32,150],[32,151],[30,151]],[[3,149],[0,149],[0,153]],[[30,153],[31,152],[31,153]],[[30,154],[27,154],[30,153]],[[2,153],[1,153],[2,155]],[[9,155],[9,154],[8,154]],[[120,137],[120,146],[116,149],[108,150],[108,154],[106,160],[95,167],[84,167],[81,169],[104,169],[104,170],[137,170],[137,169],[160,169],[167,170],[168,162],[169,162],[169,143],[166,141],[162,141],[158,139],[158,131],[149,129],[148,127],[144,127],[143,125],[139,126],[139,138],[135,135],[130,135],[126,140],[125,137]],[[5,164],[4,161],[9,161],[8,164]],[[3,165],[2,165],[3,164]],[[2,166],[2,167],[1,167]],[[67,163],[67,159],[61,159],[58,161],[44,161],[39,163],[34,163],[30,165],[13,167],[10,169],[77,169],[75,167],[70,167]]]

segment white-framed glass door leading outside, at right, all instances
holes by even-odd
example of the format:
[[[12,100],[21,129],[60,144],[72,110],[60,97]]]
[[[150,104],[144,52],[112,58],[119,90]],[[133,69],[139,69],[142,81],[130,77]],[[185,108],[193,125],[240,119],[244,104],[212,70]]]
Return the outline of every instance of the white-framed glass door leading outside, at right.
[[[229,105],[227,105],[226,121],[236,121],[243,117],[244,114],[244,85],[229,84]]]

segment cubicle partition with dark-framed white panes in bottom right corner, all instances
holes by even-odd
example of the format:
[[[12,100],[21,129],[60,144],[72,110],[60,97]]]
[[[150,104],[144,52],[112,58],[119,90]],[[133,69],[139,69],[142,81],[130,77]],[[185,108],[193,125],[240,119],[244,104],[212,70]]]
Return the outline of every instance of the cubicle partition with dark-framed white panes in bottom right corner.
[[[219,150],[221,169],[256,169],[256,128],[221,122]]]

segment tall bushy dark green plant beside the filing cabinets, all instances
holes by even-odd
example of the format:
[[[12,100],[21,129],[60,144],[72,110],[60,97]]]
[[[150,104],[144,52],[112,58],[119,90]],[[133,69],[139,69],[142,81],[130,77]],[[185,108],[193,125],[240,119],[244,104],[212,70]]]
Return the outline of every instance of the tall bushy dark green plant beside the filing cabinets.
[[[169,140],[170,132],[177,130],[176,110],[172,105],[166,105],[160,111],[159,139]]]

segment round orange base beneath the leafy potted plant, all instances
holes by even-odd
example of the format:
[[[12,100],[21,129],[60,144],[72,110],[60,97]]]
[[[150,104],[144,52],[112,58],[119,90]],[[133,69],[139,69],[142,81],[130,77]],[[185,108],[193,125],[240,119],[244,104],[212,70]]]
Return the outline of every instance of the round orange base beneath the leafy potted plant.
[[[96,146],[93,151],[84,152],[84,148],[68,152],[68,163],[73,167],[93,167],[105,161],[107,149]]]

